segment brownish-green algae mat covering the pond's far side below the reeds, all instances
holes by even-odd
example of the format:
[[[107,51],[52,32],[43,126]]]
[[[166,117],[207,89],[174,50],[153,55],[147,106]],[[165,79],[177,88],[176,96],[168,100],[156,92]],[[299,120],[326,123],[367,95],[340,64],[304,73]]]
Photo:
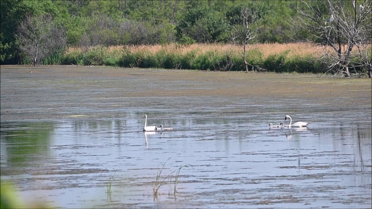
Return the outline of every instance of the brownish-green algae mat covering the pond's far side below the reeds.
[[[371,109],[369,78],[72,66],[1,66],[0,72],[2,122],[121,118],[128,108],[224,108],[253,99],[285,110],[307,111],[310,103],[313,111]],[[293,107],[291,98],[304,102]]]

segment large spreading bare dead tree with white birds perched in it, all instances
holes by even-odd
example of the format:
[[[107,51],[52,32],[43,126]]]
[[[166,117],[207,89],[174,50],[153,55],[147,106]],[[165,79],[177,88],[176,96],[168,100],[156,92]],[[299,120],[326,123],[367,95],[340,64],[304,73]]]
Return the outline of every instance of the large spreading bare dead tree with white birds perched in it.
[[[362,51],[362,48],[366,50],[368,47],[362,46],[371,44],[370,0],[361,1],[359,6],[356,0],[318,1],[312,5],[302,0],[301,2],[307,6],[307,11],[298,8],[301,17],[293,23],[311,32],[312,37],[307,41],[318,42],[318,59],[327,65],[326,73],[350,77],[349,67],[357,67],[353,58],[363,58],[364,61],[360,64],[364,64],[360,66],[369,66],[368,53],[363,54]],[[353,51],[355,46],[358,50]]]

